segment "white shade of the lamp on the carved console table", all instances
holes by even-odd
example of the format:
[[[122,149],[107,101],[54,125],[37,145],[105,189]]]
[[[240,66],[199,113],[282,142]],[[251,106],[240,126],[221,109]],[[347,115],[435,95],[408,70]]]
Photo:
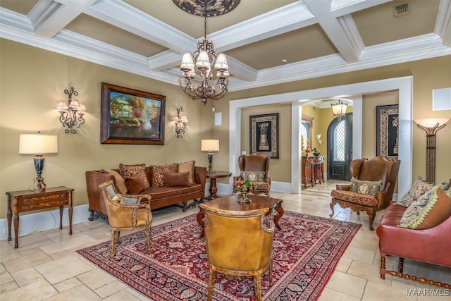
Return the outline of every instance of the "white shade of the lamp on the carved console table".
[[[58,152],[58,136],[21,134],[19,154],[51,154]]]

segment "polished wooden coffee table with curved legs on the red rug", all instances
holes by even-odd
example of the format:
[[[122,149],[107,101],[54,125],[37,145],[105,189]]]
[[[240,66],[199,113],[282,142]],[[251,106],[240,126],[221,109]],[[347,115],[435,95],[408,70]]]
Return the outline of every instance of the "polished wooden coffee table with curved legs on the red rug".
[[[252,211],[256,209],[268,208],[268,214],[273,214],[274,211],[277,211],[277,214],[274,216],[274,223],[278,230],[280,230],[279,219],[283,215],[282,208],[282,199],[275,199],[273,197],[263,197],[260,195],[247,195],[249,199],[251,199],[250,203],[240,204],[238,199],[241,197],[240,193],[236,195],[230,195],[228,197],[218,197],[211,202],[206,203],[207,206],[213,207],[221,210],[228,211]],[[202,233],[200,233],[199,238],[204,237],[204,217],[205,212],[204,209],[199,208],[199,213],[197,214],[197,222],[200,226],[202,226]]]

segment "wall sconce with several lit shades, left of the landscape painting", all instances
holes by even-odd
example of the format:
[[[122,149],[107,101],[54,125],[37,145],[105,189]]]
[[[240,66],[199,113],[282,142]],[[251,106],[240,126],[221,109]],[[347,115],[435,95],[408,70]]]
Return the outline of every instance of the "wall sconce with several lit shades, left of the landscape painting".
[[[85,115],[85,111],[87,111],[87,109],[85,104],[80,104],[77,99],[72,99],[72,95],[78,95],[78,92],[73,90],[73,87],[71,87],[70,90],[64,90],[64,94],[68,94],[68,103],[60,100],[58,102],[58,106],[56,106],[58,112],[61,113],[59,121],[63,123],[63,127],[68,127],[64,131],[66,134],[76,134],[77,131],[73,129],[73,126],[80,128],[80,125],[85,123],[83,115]]]

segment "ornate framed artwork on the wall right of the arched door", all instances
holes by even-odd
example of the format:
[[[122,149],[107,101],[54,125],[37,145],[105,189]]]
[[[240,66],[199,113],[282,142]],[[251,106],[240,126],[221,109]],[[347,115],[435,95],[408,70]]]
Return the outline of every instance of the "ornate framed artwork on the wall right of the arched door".
[[[376,106],[376,156],[398,156],[399,106]]]

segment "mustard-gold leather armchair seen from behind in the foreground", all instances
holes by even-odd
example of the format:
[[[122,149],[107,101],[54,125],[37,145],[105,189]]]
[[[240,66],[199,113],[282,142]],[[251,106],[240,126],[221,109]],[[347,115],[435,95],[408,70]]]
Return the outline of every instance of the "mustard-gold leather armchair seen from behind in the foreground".
[[[268,271],[272,285],[274,223],[264,219],[268,208],[229,211],[199,204],[205,212],[204,231],[210,278],[208,301],[213,296],[216,272],[254,276],[255,295],[261,300],[261,276]]]

